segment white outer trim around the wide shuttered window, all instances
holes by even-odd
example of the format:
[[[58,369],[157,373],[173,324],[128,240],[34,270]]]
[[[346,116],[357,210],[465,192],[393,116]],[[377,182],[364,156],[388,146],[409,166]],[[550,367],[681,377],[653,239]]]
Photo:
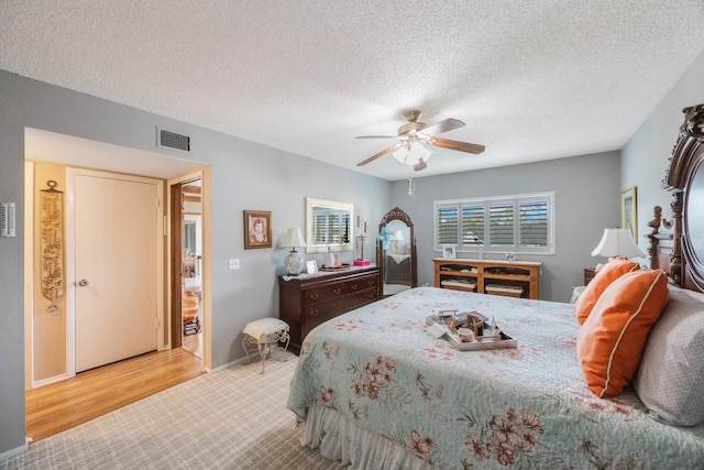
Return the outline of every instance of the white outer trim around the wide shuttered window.
[[[492,248],[488,245],[483,247],[464,247],[461,242],[458,243],[457,252],[459,253],[494,253],[494,254],[540,254],[551,255],[556,254],[556,203],[554,192],[546,193],[530,193],[530,194],[517,194],[508,196],[492,196],[492,197],[477,197],[469,199],[447,199],[433,201],[432,210],[432,242],[433,250],[442,252],[443,243],[438,241],[438,208],[441,206],[461,206],[461,205],[484,205],[485,207],[496,203],[526,203],[531,200],[547,200],[548,201],[548,245],[546,248],[525,248],[525,247],[512,247],[506,248]],[[461,212],[460,212],[461,217]],[[485,234],[485,238],[487,236]],[[461,240],[460,240],[461,241]]]

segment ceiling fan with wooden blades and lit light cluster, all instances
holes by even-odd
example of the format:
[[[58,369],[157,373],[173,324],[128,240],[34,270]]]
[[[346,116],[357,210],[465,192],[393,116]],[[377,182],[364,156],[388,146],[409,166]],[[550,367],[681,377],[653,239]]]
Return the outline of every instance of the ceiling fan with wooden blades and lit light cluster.
[[[363,166],[367,163],[372,163],[376,159],[386,155],[387,153],[394,153],[394,157],[400,163],[411,165],[415,171],[424,170],[428,166],[428,157],[430,156],[429,147],[441,147],[454,150],[458,152],[466,152],[473,154],[480,154],[484,152],[484,145],[475,143],[453,141],[450,139],[441,139],[436,136],[442,132],[448,132],[453,129],[463,128],[464,122],[459,119],[446,119],[436,124],[428,125],[425,122],[418,121],[421,112],[416,109],[409,109],[404,111],[404,117],[408,122],[398,128],[398,135],[360,135],[356,139],[397,139],[394,145],[384,149],[383,151],[370,156],[363,162],[356,164],[356,166]]]

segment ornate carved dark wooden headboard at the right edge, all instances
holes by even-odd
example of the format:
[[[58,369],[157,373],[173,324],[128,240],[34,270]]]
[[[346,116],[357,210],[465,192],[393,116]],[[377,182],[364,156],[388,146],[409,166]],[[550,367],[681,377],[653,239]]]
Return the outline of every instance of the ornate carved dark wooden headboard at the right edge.
[[[682,287],[704,291],[704,105],[682,112],[684,123],[662,181],[672,193],[670,275]]]

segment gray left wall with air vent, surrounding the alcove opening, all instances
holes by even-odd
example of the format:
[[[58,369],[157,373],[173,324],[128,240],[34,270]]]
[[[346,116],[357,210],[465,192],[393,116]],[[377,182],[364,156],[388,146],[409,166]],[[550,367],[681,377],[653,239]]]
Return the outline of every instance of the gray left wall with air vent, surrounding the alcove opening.
[[[143,112],[0,70],[0,201],[16,203],[18,236],[0,239],[0,456],[24,445],[23,210],[24,128],[158,153],[155,127],[191,136],[188,159],[211,165],[211,365],[244,354],[241,332],[254,319],[278,315],[277,274],[288,249],[243,249],[243,216],[272,211],[276,242],[288,227],[305,227],[305,197],[354,205],[378,220],[391,205],[391,183],[223,133]],[[168,149],[163,153],[173,152]],[[172,153],[173,155],[173,153]],[[180,155],[179,155],[180,156]],[[351,261],[353,252],[341,255]],[[324,253],[317,255],[322,264]],[[242,269],[229,271],[227,260]],[[306,254],[306,259],[316,256]]]

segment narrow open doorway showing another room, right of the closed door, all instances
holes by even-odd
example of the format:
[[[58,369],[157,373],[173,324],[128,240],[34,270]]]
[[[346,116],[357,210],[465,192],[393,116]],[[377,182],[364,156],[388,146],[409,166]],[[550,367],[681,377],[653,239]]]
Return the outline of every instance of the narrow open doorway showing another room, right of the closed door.
[[[172,253],[172,347],[202,359],[202,177],[169,182]]]

